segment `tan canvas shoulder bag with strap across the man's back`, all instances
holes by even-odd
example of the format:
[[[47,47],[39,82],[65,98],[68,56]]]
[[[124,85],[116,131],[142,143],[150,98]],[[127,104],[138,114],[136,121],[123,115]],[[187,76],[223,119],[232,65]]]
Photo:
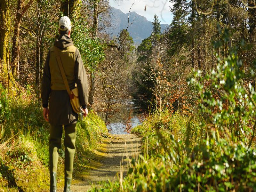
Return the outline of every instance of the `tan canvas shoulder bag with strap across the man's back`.
[[[60,54],[59,54],[58,48],[56,46],[54,46],[54,53],[55,53],[55,57],[57,59],[57,63],[60,68],[60,73],[61,73],[63,82],[65,84],[65,87],[66,87],[68,95],[69,95],[71,106],[76,113],[80,113],[82,111],[82,108],[81,108],[79,97],[78,97],[78,94],[79,94],[78,88],[76,87],[75,89],[70,90],[69,85],[68,85],[67,76],[65,74],[65,71],[64,71],[61,59],[60,59]]]

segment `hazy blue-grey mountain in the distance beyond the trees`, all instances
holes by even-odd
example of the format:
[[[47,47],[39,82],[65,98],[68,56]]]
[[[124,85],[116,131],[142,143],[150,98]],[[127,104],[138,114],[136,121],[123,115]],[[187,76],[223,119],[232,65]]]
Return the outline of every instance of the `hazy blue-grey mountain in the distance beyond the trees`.
[[[134,21],[127,30],[130,33],[130,36],[132,36],[134,43],[139,45],[143,39],[150,36],[153,26],[146,17],[143,17],[136,12],[123,13],[121,10],[114,7],[110,7],[109,13],[111,27],[106,28],[105,32],[110,34],[110,36],[118,36],[122,29],[127,28],[129,14],[130,23],[132,23],[133,19]],[[169,25],[161,24],[162,32],[166,27],[169,27]]]

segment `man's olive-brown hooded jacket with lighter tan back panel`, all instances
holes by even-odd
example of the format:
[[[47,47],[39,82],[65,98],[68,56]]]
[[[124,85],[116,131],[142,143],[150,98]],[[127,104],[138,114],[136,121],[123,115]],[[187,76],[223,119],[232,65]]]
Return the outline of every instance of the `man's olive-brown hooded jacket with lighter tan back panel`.
[[[79,90],[79,100],[82,108],[88,103],[87,75],[79,50],[67,35],[60,35],[54,46],[59,48],[60,58],[65,70],[70,89]],[[67,53],[68,54],[65,54]],[[70,57],[70,58],[67,58]],[[68,92],[60,75],[53,47],[50,48],[44,66],[41,92],[43,107],[49,104],[49,123],[52,125],[70,125],[77,122],[78,114],[70,104]]]

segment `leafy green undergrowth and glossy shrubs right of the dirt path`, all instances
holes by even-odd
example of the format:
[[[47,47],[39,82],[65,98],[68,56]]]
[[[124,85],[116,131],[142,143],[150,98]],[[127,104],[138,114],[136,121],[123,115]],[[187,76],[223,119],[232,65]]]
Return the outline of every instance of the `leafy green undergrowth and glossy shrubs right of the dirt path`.
[[[221,36],[227,44],[228,30]],[[216,54],[209,74],[194,71],[188,84],[197,89],[200,110],[150,114],[132,130],[144,155],[132,159],[124,179],[91,191],[256,191],[256,92],[238,58],[244,49],[242,41],[226,58]],[[246,69],[255,78],[255,66]]]

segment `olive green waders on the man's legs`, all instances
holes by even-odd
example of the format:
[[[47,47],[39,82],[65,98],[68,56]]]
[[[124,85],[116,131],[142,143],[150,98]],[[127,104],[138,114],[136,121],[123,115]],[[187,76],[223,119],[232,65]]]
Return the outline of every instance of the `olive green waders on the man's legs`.
[[[70,191],[70,185],[72,180],[73,172],[73,162],[74,155],[76,151],[76,124],[65,125],[65,138],[64,138],[64,147],[65,147],[65,187],[64,192]],[[51,186],[50,191],[55,192],[56,188],[56,172],[57,164],[59,158],[59,149],[61,147],[61,137],[62,137],[62,126],[50,125],[50,139],[49,139],[49,154],[50,154],[50,179]]]

